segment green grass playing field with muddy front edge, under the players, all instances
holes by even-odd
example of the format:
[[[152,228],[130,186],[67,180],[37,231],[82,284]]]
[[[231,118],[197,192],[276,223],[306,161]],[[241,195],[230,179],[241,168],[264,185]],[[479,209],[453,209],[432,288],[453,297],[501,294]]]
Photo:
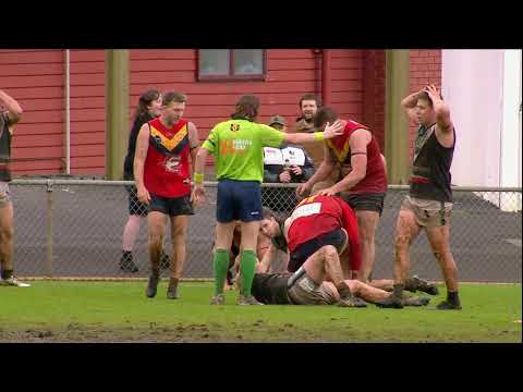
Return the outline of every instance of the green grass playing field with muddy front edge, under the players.
[[[521,284],[462,284],[461,311],[422,308],[208,305],[210,283],[154,299],[145,282],[36,281],[0,287],[2,342],[522,342]],[[441,287],[441,293],[445,290]]]

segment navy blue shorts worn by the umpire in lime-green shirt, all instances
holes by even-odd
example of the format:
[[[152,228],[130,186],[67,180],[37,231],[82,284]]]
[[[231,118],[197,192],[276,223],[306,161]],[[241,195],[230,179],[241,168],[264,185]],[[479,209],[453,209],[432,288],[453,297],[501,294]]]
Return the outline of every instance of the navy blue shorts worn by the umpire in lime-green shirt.
[[[216,203],[216,219],[220,223],[234,220],[262,220],[262,187],[257,181],[220,180]]]

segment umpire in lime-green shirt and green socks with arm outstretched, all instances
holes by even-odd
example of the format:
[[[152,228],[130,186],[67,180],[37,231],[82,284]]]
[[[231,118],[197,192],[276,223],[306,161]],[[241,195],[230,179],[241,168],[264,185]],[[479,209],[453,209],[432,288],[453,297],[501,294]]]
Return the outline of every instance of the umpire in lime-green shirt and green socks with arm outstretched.
[[[231,120],[217,124],[197,154],[193,189],[196,204],[205,200],[204,164],[209,154],[215,155],[218,180],[215,268],[215,296],[211,304],[224,302],[223,282],[229,266],[229,249],[236,220],[242,223],[241,264],[242,292],[240,305],[259,305],[251,295],[256,264],[256,241],[262,220],[260,183],[264,176],[264,147],[278,147],[283,142],[321,142],[340,134],[340,123],[327,124],[325,132],[287,134],[268,125],[256,123],[259,99],[242,96]]]

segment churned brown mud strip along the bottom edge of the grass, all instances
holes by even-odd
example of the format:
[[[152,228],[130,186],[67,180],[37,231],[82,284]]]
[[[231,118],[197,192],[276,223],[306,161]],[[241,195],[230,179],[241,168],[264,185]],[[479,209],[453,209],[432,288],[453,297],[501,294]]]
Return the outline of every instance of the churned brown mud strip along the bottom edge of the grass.
[[[340,318],[338,318],[340,320]],[[514,326],[514,324],[512,324]],[[514,326],[515,327],[515,326]],[[270,324],[264,320],[231,322],[228,324],[187,323],[161,324],[147,322],[139,326],[71,323],[62,328],[32,327],[21,330],[0,329],[0,343],[265,343],[265,342],[342,342],[342,343],[400,343],[400,342],[521,342],[521,328],[489,330],[483,336],[452,336],[423,333],[413,339],[396,334],[384,335],[376,331],[356,331],[344,326],[341,329],[306,329],[294,323]]]

